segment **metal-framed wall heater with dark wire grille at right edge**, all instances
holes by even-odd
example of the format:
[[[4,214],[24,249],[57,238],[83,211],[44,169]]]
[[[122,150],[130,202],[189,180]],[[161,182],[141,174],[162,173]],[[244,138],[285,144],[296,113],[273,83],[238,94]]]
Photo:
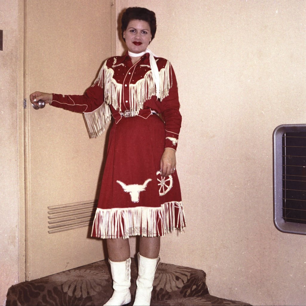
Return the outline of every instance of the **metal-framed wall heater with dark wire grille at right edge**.
[[[273,140],[274,224],[306,234],[306,125],[280,125]]]

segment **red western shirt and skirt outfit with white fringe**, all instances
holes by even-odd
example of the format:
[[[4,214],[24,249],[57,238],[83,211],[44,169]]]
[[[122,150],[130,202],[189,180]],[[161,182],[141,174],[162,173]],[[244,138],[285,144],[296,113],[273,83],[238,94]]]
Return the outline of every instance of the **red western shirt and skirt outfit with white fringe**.
[[[92,237],[156,237],[185,227],[177,171],[159,171],[164,149],[177,148],[177,82],[169,61],[155,61],[160,99],[148,53],[134,65],[127,54],[107,59],[84,95],[53,94],[52,106],[84,114],[90,137],[113,118]]]

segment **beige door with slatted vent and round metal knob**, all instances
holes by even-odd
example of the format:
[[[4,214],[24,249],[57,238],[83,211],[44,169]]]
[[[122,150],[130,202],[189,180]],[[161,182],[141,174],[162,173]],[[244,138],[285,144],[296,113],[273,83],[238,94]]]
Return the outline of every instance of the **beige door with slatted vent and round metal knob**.
[[[26,280],[105,258],[90,238],[106,135],[89,139],[82,114],[46,105],[33,91],[83,94],[111,56],[111,0],[26,0],[24,110]],[[113,35],[114,36],[114,35]]]

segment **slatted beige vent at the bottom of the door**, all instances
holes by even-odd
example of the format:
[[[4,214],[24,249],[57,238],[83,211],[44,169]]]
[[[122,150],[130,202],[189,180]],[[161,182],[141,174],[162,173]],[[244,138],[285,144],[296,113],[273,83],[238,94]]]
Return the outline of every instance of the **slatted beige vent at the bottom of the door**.
[[[48,233],[88,226],[95,217],[97,200],[49,206]]]

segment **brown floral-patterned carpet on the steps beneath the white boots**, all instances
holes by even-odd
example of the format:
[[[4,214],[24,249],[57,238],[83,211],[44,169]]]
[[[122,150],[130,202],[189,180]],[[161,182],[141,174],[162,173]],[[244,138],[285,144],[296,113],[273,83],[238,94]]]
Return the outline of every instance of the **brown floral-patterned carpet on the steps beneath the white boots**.
[[[132,258],[132,302],[137,267]],[[209,294],[204,271],[160,263],[155,274],[151,305],[249,305]],[[103,305],[112,295],[107,260],[13,285],[6,305]],[[133,303],[129,305],[132,305]]]

